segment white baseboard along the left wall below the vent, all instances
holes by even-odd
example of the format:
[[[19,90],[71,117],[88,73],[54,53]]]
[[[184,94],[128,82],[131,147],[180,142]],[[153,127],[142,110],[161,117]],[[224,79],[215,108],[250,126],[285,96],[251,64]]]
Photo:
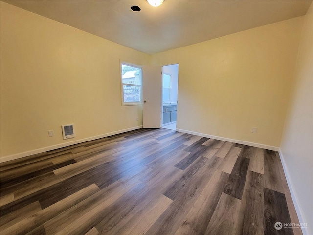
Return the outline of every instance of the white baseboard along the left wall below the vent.
[[[98,136],[93,136],[93,137],[89,137],[89,138],[85,138],[85,139],[81,139],[81,140],[70,141],[70,142],[66,142],[66,143],[60,143],[60,144],[56,144],[56,145],[52,145],[52,146],[48,146],[48,147],[44,147],[44,148],[38,148],[35,150],[30,150],[30,151],[26,151],[26,152],[22,152],[22,153],[12,154],[12,155],[1,157],[0,163],[19,159],[19,158],[23,158],[23,157],[33,155],[33,154],[51,151],[51,150],[58,149],[58,148],[67,147],[67,146],[78,144],[78,143],[93,141],[93,140],[104,138],[107,136],[112,136],[112,135],[116,135],[116,134],[120,134],[120,133],[124,133],[124,132],[128,132],[128,131],[133,131],[133,130],[140,129],[140,128],[142,128],[142,125],[141,126],[134,126],[134,127],[123,129],[123,130],[113,131],[113,132],[109,132],[109,133],[105,133],[105,134],[101,134]]]

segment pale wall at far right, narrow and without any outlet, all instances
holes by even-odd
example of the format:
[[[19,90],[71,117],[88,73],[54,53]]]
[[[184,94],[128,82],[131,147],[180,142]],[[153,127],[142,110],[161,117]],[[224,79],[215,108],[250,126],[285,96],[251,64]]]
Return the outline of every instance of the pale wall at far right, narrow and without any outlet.
[[[313,4],[305,16],[281,154],[302,211],[300,222],[313,234]]]

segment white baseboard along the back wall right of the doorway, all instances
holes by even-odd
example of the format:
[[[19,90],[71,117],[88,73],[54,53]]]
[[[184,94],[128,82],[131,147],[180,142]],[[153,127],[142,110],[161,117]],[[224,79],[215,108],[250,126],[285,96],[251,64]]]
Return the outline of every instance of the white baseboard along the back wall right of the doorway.
[[[235,140],[235,139],[224,138],[224,137],[220,137],[220,136],[213,136],[213,135],[208,135],[208,134],[204,134],[204,133],[200,133],[200,132],[188,131],[188,130],[183,130],[183,129],[176,129],[176,131],[187,133],[187,134],[192,134],[192,135],[197,135],[197,136],[203,136],[203,137],[207,137],[207,138],[212,138],[212,139],[220,140],[220,141],[228,141],[228,142],[232,142],[232,143],[245,144],[245,145],[252,146],[252,147],[258,147],[258,148],[264,148],[264,149],[269,149],[269,150],[273,150],[273,151],[279,151],[279,147],[260,144],[260,143]]]

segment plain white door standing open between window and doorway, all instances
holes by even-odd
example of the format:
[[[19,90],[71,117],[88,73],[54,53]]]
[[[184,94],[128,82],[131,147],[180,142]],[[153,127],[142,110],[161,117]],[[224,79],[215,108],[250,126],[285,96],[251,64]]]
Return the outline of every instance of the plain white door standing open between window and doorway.
[[[142,127],[160,128],[162,117],[162,67],[142,67]]]

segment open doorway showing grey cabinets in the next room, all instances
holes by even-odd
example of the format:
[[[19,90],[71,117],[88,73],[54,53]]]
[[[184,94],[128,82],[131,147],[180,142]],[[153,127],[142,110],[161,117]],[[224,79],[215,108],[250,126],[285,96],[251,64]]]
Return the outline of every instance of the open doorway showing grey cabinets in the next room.
[[[171,130],[176,130],[177,123],[178,67],[162,67],[162,127]]]

